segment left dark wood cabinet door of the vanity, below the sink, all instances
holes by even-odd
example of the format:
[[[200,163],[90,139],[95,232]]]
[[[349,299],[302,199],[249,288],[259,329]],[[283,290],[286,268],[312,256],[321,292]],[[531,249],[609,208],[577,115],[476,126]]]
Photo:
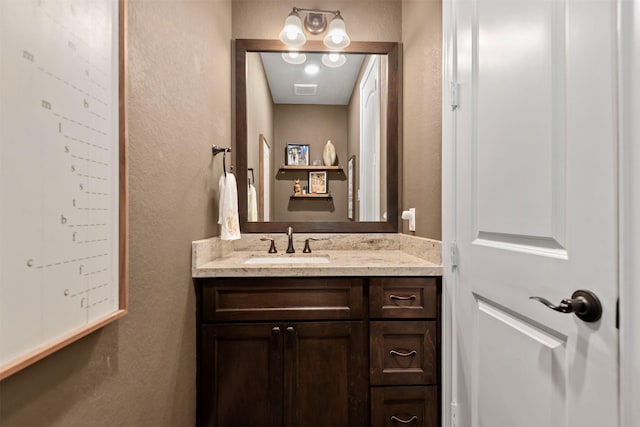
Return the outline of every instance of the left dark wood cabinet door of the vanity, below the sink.
[[[200,425],[282,425],[282,324],[203,325]]]

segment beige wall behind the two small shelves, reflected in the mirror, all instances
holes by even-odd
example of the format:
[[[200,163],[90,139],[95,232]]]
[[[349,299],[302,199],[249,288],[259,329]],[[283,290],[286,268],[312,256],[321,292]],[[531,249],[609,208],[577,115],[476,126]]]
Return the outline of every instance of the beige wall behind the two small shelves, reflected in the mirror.
[[[336,164],[347,164],[347,107],[345,105],[275,105],[275,172],[284,163],[287,144],[309,144],[309,160],[322,160],[327,140],[336,149]],[[345,169],[346,170],[346,169]],[[273,219],[275,221],[346,221],[347,181],[345,174],[329,172],[331,200],[290,200],[296,178],[308,185],[306,172],[286,172],[275,178]]]

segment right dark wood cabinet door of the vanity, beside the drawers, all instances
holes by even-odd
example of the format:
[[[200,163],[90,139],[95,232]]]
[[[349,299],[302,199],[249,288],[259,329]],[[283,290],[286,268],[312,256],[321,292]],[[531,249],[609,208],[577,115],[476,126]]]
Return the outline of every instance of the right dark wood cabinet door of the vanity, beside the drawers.
[[[363,322],[285,324],[285,425],[366,426]]]

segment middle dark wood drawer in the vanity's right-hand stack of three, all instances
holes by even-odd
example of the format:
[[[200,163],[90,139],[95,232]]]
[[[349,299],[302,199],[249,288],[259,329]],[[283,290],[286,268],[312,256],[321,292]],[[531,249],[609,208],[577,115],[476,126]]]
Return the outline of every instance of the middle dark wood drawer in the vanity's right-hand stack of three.
[[[371,385],[437,384],[435,321],[369,323]]]

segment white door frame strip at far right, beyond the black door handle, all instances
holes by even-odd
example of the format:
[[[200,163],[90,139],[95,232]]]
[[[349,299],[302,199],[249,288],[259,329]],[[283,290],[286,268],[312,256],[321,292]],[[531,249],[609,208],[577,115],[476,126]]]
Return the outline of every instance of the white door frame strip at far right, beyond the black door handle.
[[[640,5],[616,0],[618,8],[618,211],[620,425],[640,419]],[[635,8],[634,8],[635,6]],[[633,141],[636,141],[636,144]]]

